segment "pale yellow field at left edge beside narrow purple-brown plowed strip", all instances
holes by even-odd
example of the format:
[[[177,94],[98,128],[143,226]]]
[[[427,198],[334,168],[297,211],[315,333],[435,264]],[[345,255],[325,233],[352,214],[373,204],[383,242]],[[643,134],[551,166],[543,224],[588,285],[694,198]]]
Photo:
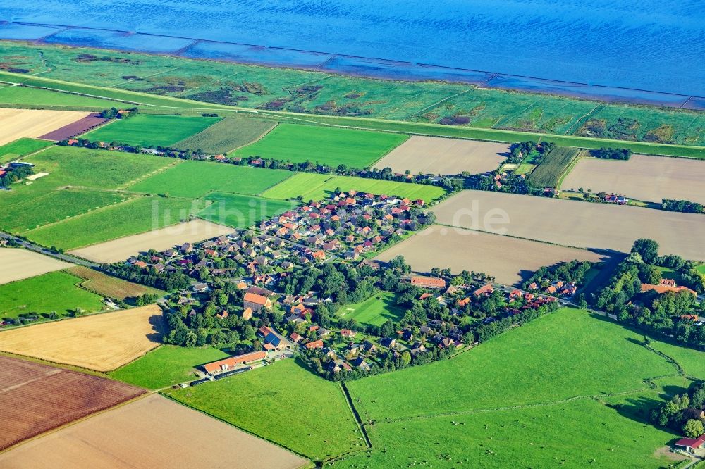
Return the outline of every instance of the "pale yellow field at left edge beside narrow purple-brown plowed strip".
[[[0,145],[22,137],[37,138],[85,118],[88,114],[80,111],[0,108]]]

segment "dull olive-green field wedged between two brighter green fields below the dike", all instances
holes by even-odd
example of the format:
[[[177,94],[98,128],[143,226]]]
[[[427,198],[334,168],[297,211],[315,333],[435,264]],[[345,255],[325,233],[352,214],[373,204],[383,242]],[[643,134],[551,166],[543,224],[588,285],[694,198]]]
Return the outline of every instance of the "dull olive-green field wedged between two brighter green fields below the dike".
[[[254,142],[275,125],[274,120],[228,117],[196,135],[176,142],[174,146],[178,149],[201,149],[209,154],[226,153]]]

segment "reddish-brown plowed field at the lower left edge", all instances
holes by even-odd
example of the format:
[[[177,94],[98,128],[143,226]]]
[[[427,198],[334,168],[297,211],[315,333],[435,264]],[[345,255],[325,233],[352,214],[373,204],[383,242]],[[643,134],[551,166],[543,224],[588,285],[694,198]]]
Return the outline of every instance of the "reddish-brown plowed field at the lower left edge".
[[[143,393],[122,382],[0,356],[0,449]]]

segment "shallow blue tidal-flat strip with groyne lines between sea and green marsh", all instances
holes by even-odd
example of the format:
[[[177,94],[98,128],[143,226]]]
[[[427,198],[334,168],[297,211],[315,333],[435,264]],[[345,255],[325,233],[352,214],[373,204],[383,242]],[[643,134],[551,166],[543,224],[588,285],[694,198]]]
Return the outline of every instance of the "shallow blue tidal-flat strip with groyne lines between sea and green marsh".
[[[257,65],[266,68],[308,70],[377,80],[452,82],[474,85],[479,88],[499,89],[505,92],[547,94],[571,99],[584,99],[615,104],[635,104],[689,111],[705,111],[705,96],[654,92],[646,89],[613,87],[609,85],[589,85],[580,82],[565,82],[541,77],[509,75],[505,73],[453,68],[427,63],[410,63],[385,58],[330,54],[301,49],[268,47],[256,44],[241,44],[192,37],[111,30],[106,28],[74,27],[70,25],[51,25],[44,23],[11,23],[7,21],[0,21],[0,25],[19,25],[30,29],[37,27],[51,28],[52,31],[44,31],[49,34],[42,34],[38,37],[36,35],[32,35],[32,37],[3,37],[2,30],[0,29],[0,40],[25,42],[38,46],[87,47],[125,53]],[[61,34],[66,32],[83,32],[93,37],[78,39],[71,39],[71,37],[69,37],[63,39]],[[105,35],[108,36],[105,37]],[[133,42],[135,39],[140,39],[141,37],[167,39],[175,44],[171,47],[160,47],[161,44],[157,44],[151,50],[141,46],[130,47],[129,42]],[[120,42],[124,44],[119,44]],[[141,44],[149,43],[149,41],[139,42]]]

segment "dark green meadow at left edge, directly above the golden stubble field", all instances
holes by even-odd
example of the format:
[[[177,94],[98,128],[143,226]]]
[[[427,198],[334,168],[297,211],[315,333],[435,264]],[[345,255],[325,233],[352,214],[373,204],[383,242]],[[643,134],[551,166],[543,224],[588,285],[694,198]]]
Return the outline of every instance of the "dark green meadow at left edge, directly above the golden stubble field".
[[[0,285],[0,316],[48,315],[51,311],[66,316],[75,308],[86,313],[101,311],[102,297],[78,287],[80,282],[78,277],[57,271]]]

